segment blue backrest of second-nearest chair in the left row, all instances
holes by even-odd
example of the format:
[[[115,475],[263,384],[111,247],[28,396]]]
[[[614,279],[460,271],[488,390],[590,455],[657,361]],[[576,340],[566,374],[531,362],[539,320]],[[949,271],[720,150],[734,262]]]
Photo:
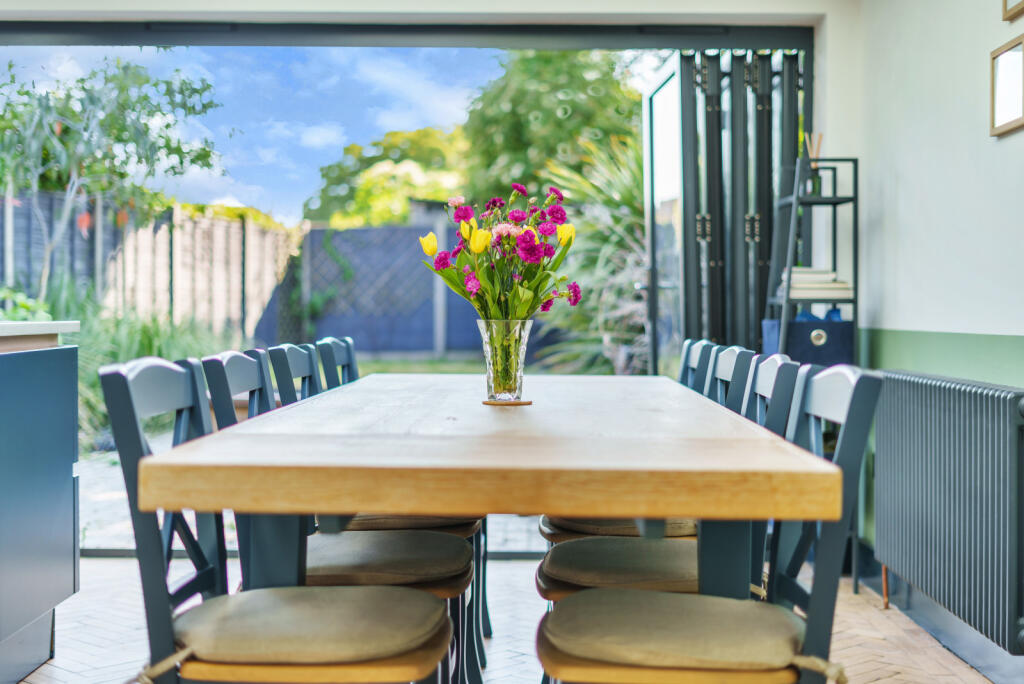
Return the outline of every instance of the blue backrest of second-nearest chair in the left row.
[[[217,428],[224,429],[239,422],[234,413],[234,396],[249,396],[249,418],[265,414],[275,405],[273,382],[270,379],[269,355],[265,349],[222,351],[203,358],[203,371],[210,388],[210,402],[217,419]]]

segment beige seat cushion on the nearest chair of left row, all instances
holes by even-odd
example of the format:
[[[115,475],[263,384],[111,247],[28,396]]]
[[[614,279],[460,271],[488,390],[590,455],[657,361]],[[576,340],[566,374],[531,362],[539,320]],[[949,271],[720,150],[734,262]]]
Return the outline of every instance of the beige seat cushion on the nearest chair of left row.
[[[174,637],[201,660],[356,662],[410,651],[446,621],[442,600],[407,587],[285,587],[204,601]]]

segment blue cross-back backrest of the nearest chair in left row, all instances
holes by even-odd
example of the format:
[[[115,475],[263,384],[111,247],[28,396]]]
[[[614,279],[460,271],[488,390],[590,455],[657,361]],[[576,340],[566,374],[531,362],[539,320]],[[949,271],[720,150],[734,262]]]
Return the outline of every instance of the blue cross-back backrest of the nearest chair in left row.
[[[165,512],[161,521],[156,513],[138,508],[138,464],[153,453],[142,429],[143,421],[173,413],[175,445],[208,434],[211,426],[206,382],[199,360],[172,364],[155,356],[104,366],[99,369],[99,379],[135,531],[151,662],[158,662],[176,650],[171,622],[174,609],[196,594],[209,598],[227,591],[224,530],[219,514],[198,514],[198,533],[194,536],[180,512]],[[196,572],[169,591],[167,570],[175,536]]]

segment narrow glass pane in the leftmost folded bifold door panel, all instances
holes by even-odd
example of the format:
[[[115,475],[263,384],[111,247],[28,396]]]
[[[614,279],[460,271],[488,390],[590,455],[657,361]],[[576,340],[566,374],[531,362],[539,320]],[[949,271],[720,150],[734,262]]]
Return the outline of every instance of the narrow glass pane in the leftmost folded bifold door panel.
[[[675,377],[683,340],[682,112],[679,78],[651,96],[654,241],[657,254],[658,372]]]

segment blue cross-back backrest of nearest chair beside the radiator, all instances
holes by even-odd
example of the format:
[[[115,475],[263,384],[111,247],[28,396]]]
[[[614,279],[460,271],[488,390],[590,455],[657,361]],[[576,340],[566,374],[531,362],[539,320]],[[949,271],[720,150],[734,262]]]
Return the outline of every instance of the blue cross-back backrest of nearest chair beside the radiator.
[[[843,556],[857,500],[860,467],[874,409],[882,390],[882,376],[853,366],[820,371],[800,369],[786,439],[828,458],[843,473],[842,517],[835,522],[776,521],[769,550],[768,600],[799,606],[807,614],[803,654],[828,657],[836,594]],[[836,451],[824,451],[824,422],[840,426]],[[810,592],[797,575],[814,547],[814,579]]]

